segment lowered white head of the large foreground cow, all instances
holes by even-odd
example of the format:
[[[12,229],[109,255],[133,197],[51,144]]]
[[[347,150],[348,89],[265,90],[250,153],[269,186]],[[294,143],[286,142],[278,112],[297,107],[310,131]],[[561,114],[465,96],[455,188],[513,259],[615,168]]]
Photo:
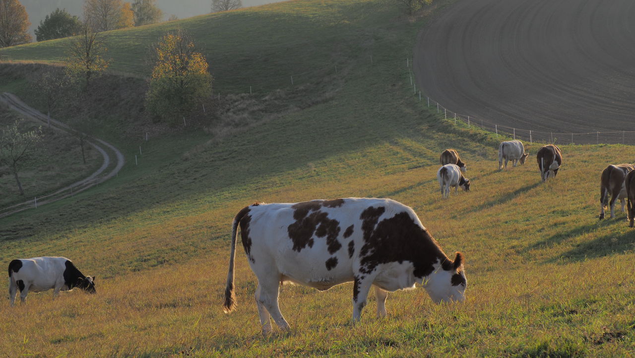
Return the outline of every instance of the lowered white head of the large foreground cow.
[[[464,261],[463,254],[457,252],[452,263],[441,263],[428,276],[424,287],[434,303],[465,300],[467,280],[465,279]]]

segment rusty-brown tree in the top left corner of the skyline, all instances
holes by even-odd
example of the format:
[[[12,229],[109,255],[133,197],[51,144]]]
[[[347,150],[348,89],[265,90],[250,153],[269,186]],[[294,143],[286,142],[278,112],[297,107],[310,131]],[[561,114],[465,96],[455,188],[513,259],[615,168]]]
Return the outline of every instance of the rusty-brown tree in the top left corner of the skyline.
[[[18,0],[0,0],[0,47],[29,43],[29,15]]]

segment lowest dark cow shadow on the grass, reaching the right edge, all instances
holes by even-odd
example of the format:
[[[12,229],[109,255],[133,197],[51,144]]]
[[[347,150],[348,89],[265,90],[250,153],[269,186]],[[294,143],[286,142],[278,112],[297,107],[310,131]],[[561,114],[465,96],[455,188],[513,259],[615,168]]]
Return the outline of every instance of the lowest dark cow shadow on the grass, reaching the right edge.
[[[601,258],[612,254],[621,254],[635,250],[635,231],[629,230],[622,234],[606,234],[603,237],[580,244],[575,249],[567,251],[547,262],[584,261],[589,258]]]

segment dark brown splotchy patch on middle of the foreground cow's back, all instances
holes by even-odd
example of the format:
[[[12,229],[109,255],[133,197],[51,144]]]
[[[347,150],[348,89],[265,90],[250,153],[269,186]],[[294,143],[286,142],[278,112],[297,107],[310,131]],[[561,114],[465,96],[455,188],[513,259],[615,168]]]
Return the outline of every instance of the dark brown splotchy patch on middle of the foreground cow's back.
[[[341,200],[341,202],[340,202]],[[327,205],[323,205],[328,202]],[[326,245],[328,252],[334,254],[342,244],[337,240],[340,235],[340,222],[335,219],[329,219],[326,212],[321,212],[323,206],[337,207],[342,205],[344,200],[312,200],[311,202],[297,203],[291,206],[293,209],[293,219],[295,223],[287,227],[287,231],[291,241],[293,241],[293,250],[300,252],[307,247],[313,247],[315,234],[317,237],[326,237]]]

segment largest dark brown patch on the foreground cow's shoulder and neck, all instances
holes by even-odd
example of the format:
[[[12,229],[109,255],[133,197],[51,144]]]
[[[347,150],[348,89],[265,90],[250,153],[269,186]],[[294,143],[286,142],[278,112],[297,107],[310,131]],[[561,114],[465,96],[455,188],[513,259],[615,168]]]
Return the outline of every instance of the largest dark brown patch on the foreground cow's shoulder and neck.
[[[432,235],[415,223],[408,212],[399,212],[377,223],[383,212],[384,208],[368,208],[362,213],[364,245],[359,251],[361,272],[370,273],[383,263],[410,261],[415,277],[422,278],[432,273],[435,263],[451,265]]]

